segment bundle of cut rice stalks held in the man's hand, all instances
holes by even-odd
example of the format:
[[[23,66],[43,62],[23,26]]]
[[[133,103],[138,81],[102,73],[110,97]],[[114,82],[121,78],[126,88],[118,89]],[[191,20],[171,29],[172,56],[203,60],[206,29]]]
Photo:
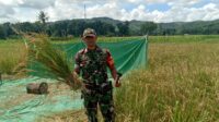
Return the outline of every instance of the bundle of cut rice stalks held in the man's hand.
[[[72,62],[68,60],[66,52],[55,48],[46,35],[32,34],[24,37],[28,42],[28,63],[39,63],[44,66],[44,71],[31,69],[30,72],[50,73],[54,78],[68,84],[73,89],[81,86],[77,74],[71,70]]]

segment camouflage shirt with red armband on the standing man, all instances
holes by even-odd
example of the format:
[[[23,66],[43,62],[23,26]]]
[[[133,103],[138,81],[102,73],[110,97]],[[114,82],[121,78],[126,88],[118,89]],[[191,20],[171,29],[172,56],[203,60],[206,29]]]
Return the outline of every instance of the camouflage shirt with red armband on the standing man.
[[[82,73],[83,83],[100,85],[107,82],[107,66],[114,68],[114,60],[107,49],[102,49],[99,46],[90,50],[84,48],[74,57],[74,71]]]

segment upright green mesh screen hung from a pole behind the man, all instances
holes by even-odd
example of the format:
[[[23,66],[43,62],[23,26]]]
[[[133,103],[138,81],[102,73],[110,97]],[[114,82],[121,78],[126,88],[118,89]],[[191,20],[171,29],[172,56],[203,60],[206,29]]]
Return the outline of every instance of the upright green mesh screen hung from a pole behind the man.
[[[145,68],[147,63],[147,47],[146,38],[136,40],[123,40],[117,42],[97,42],[102,48],[107,48],[114,60],[118,72],[125,74],[128,71],[137,68]],[[73,60],[74,54],[85,48],[81,42],[55,45],[55,47],[67,52],[69,60]],[[73,66],[73,64],[72,64]],[[53,74],[45,72],[45,68],[37,62],[32,62],[30,69],[33,71],[30,75],[38,77],[53,77]]]

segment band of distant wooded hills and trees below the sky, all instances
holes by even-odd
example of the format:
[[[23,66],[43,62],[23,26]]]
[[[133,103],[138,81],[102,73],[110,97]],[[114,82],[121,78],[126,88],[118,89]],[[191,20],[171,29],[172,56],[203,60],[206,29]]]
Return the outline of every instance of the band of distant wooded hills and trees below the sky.
[[[108,17],[78,19],[49,22],[49,17],[39,12],[34,23],[0,24],[0,38],[18,38],[12,27],[25,33],[46,33],[53,38],[79,37],[83,29],[92,27],[100,36],[142,36],[149,35],[217,35],[219,20],[196,22],[153,23],[143,21],[118,21]]]

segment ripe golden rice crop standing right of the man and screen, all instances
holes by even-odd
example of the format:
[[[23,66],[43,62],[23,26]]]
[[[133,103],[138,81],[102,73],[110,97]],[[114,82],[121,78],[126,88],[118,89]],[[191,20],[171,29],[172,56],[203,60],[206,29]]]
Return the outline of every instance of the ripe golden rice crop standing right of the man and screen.
[[[219,44],[151,44],[116,93],[117,122],[218,122]]]

